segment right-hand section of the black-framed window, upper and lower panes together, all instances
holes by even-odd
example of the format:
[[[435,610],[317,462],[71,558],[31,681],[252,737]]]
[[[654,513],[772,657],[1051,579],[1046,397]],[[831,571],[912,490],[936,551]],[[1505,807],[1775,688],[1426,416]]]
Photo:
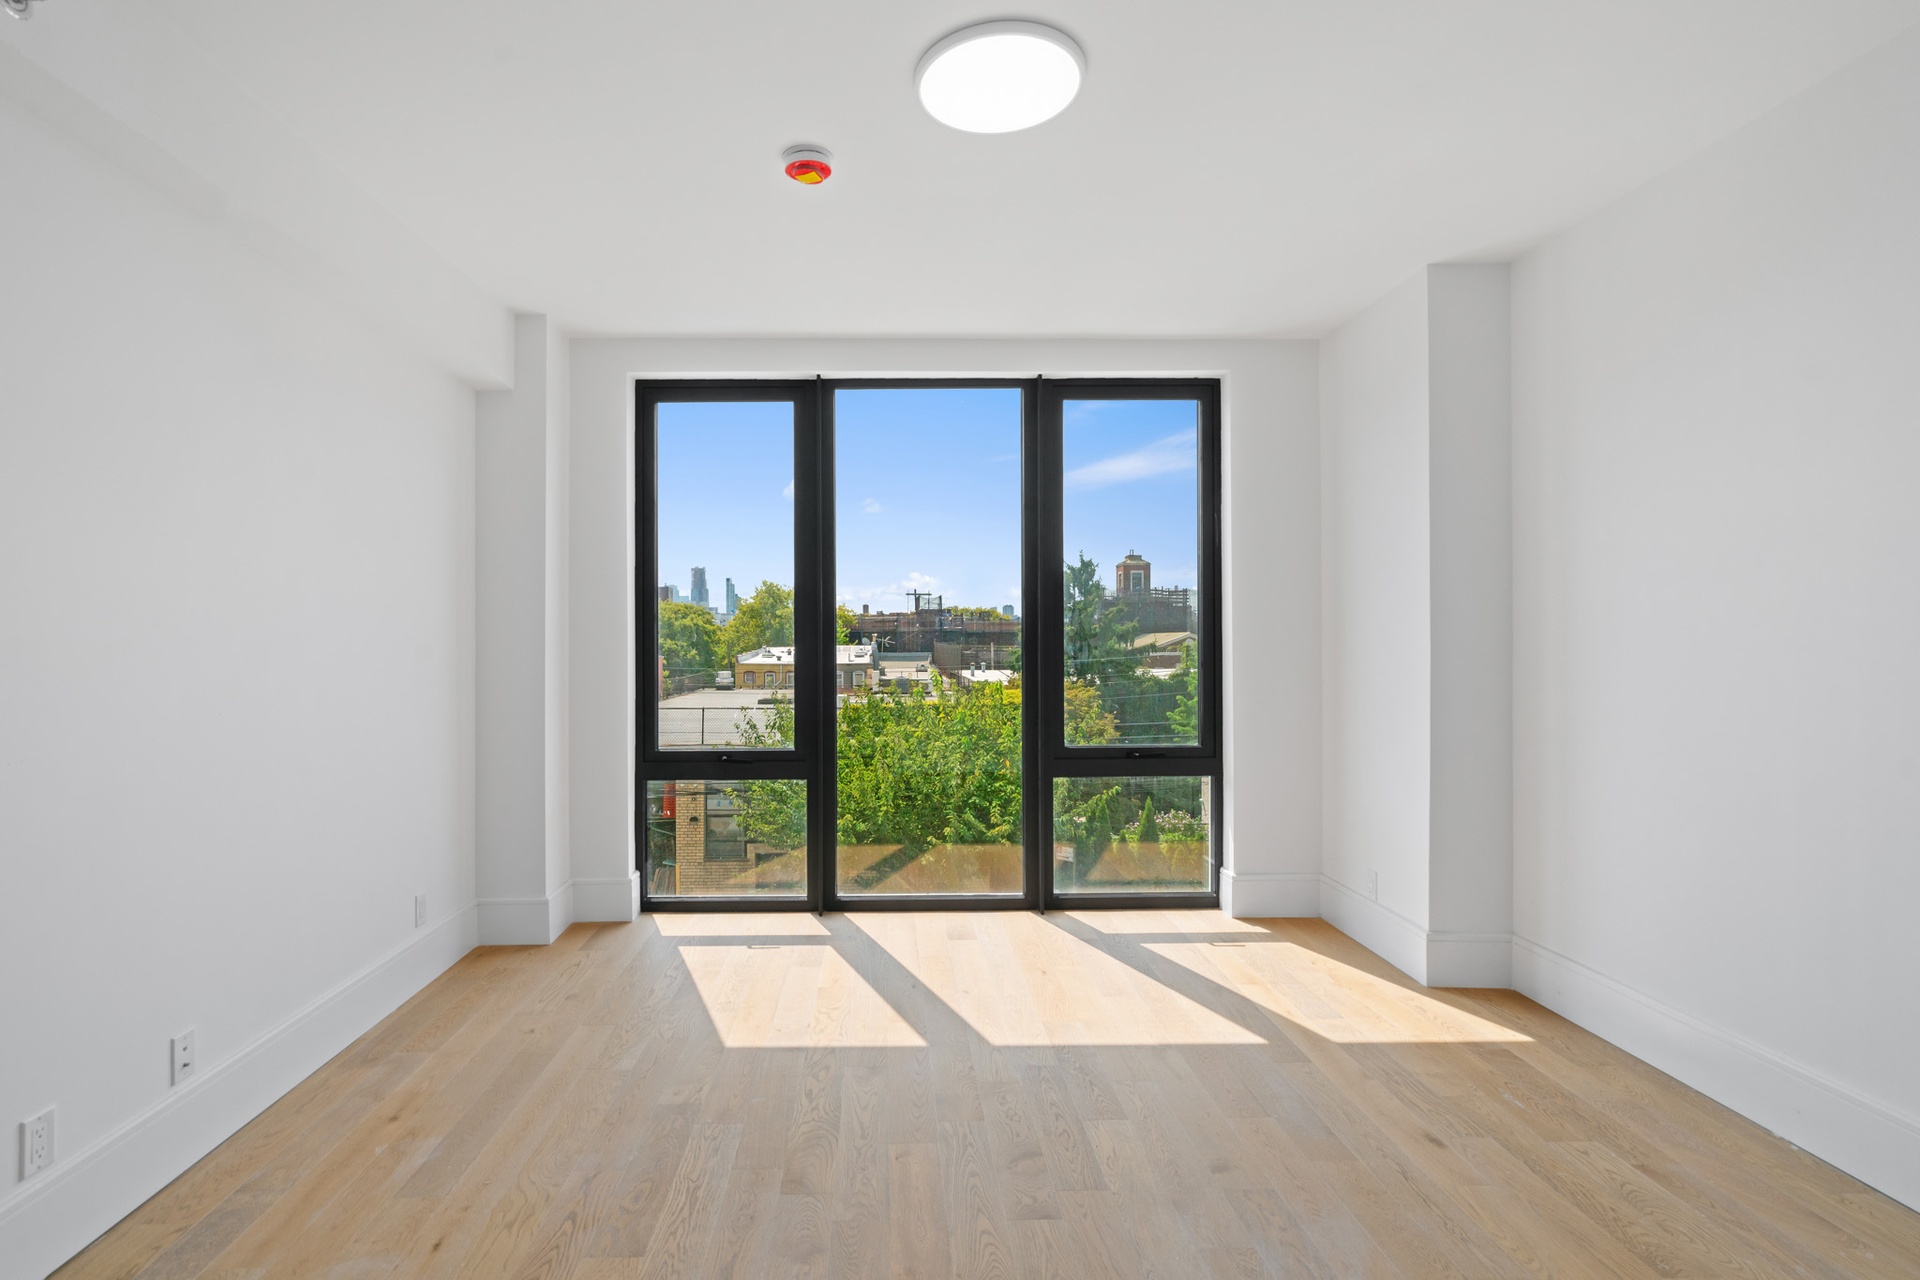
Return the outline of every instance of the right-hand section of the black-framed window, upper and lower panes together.
[[[1052,890],[1213,892],[1217,391],[1044,382],[1039,395]]]

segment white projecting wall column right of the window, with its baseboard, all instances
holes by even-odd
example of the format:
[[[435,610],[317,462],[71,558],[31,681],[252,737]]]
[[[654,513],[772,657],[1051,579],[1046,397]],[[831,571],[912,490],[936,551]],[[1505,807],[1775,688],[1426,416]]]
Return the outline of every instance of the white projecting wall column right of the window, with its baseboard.
[[[1428,267],[1321,344],[1321,912],[1434,986],[1511,973],[1507,290]]]

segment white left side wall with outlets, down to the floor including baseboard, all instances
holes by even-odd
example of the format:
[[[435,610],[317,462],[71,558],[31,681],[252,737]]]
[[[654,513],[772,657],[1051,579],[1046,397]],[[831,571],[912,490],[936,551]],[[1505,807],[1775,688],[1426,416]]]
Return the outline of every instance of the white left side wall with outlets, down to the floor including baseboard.
[[[470,946],[474,474],[470,391],[6,98],[0,173],[13,1278]]]

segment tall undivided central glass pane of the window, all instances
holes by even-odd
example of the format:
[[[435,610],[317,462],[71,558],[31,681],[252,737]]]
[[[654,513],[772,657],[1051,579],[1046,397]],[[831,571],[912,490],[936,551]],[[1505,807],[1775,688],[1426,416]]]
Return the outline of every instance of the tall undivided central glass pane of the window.
[[[835,391],[841,894],[1018,894],[1018,388]]]

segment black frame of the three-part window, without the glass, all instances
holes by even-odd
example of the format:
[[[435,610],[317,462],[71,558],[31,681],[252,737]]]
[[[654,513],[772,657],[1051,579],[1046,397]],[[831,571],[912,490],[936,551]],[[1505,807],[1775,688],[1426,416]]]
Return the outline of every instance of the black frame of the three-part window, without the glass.
[[[841,390],[1021,390],[1021,789],[1025,885],[1020,894],[841,894],[835,885],[837,672],[835,434]],[[1200,409],[1200,741],[1194,747],[1068,747],[1064,725],[1064,474],[1068,399],[1192,399]],[[672,748],[659,741],[660,403],[793,403],[795,745],[791,750]],[[1217,906],[1225,854],[1221,635],[1221,422],[1217,378],[636,378],[634,380],[634,860],[643,912],[1100,910]],[[812,637],[806,643],[804,637]],[[649,674],[655,674],[649,679]],[[1210,777],[1210,887],[1188,892],[1058,892],[1052,881],[1056,777]],[[668,781],[799,779],[806,783],[806,890],[768,896],[655,896],[647,885],[647,787]]]

